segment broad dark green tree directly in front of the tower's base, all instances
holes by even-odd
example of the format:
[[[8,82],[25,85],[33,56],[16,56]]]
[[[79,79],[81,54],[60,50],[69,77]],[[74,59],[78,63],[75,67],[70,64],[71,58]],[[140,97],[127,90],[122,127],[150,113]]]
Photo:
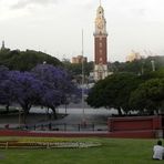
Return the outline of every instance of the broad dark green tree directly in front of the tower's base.
[[[132,73],[116,73],[99,81],[90,91],[86,102],[93,107],[116,109],[129,113],[129,98],[131,92],[137,88],[141,80]]]

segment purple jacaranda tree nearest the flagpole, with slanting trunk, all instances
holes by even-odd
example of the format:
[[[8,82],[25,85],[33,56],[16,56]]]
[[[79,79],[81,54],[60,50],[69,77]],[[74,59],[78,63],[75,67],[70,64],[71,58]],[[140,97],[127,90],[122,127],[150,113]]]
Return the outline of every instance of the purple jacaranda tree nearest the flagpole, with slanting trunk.
[[[50,107],[57,117],[57,107],[68,103],[68,98],[75,94],[75,85],[64,70],[50,64],[39,64],[32,72],[43,83],[42,105]]]

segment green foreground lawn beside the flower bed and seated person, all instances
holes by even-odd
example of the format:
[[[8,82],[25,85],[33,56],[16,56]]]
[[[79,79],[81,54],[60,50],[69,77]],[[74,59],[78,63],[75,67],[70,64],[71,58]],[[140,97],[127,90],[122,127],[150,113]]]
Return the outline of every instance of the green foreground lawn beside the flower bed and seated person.
[[[84,139],[82,139],[84,140]],[[54,150],[0,150],[0,164],[154,164],[156,140],[85,139],[99,147]]]

